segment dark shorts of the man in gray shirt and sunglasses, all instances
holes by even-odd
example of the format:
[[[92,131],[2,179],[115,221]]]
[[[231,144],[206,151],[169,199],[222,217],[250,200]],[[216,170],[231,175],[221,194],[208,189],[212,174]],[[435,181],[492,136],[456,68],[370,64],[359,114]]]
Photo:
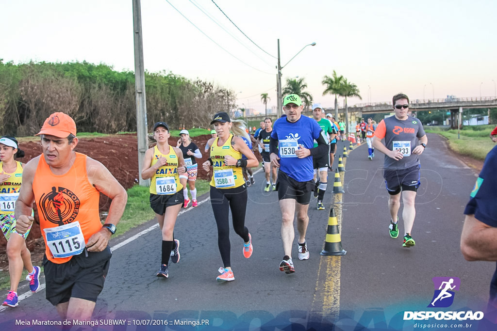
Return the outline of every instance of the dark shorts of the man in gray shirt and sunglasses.
[[[420,166],[399,170],[383,170],[383,178],[385,178],[385,186],[391,196],[395,196],[402,191],[414,191],[419,188],[419,173]]]

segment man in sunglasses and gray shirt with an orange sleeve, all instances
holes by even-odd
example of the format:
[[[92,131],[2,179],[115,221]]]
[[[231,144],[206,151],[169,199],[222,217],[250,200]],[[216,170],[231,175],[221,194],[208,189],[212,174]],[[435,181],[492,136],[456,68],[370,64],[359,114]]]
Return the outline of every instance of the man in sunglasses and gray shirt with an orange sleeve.
[[[419,157],[428,138],[424,133],[423,125],[418,119],[408,115],[409,97],[399,93],[394,95],[395,115],[380,122],[376,128],[373,148],[385,154],[383,177],[389,194],[388,206],[390,209],[390,236],[399,236],[397,216],[400,208],[401,191],[404,202],[402,218],[406,235],[402,247],[413,247],[414,239],[411,235],[416,209],[414,200],[419,188]],[[385,144],[381,139],[385,138]]]

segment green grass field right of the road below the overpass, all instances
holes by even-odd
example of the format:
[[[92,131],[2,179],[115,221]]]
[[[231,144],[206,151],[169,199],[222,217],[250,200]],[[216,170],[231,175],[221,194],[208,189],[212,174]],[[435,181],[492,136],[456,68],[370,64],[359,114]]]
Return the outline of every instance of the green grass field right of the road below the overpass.
[[[455,152],[484,161],[488,152],[495,146],[489,136],[493,129],[492,125],[464,127],[459,131],[459,138],[457,130],[431,127],[426,128],[425,131],[446,137],[449,140],[449,147]]]

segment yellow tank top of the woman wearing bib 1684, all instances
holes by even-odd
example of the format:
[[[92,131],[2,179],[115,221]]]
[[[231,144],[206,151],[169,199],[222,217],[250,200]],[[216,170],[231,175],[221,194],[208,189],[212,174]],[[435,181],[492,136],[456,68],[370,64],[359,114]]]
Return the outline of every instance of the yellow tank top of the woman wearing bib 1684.
[[[152,157],[153,166],[157,163],[159,158],[165,157],[167,159],[166,165],[157,169],[155,175],[152,177],[150,183],[150,193],[158,195],[171,195],[179,190],[183,190],[183,185],[179,182],[179,175],[177,172],[178,167],[178,156],[174,152],[174,149],[169,145],[169,154],[163,154],[154,146],[154,156]]]

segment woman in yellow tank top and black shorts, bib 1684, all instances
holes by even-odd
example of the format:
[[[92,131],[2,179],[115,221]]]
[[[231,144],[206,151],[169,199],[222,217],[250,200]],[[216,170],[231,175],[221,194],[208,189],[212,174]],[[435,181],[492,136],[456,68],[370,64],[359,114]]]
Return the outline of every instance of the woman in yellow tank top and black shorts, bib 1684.
[[[157,122],[154,125],[154,139],[157,145],[145,152],[142,178],[152,179],[150,184],[150,206],[156,213],[162,230],[161,268],[156,276],[169,276],[169,256],[171,261],[179,261],[179,240],[173,238],[174,224],[179,209],[183,205],[183,186],[179,175],[186,172],[183,153],[179,148],[169,145],[170,133],[167,124]]]

